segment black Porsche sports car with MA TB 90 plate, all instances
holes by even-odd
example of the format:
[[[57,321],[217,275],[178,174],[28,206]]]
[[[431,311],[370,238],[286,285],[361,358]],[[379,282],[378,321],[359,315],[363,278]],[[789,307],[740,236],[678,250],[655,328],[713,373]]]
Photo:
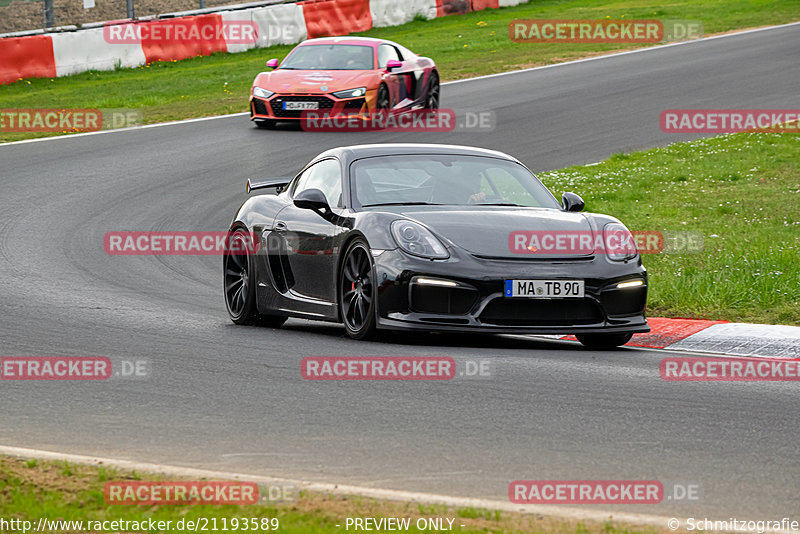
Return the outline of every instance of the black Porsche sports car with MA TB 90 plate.
[[[287,317],[378,329],[575,334],[586,346],[648,332],[647,273],[617,219],[562,203],[515,158],[480,148],[375,144],[323,152],[238,210],[223,257],[237,324]],[[273,190],[273,191],[271,191]],[[277,192],[277,194],[275,194]],[[558,245],[558,246],[557,246]]]

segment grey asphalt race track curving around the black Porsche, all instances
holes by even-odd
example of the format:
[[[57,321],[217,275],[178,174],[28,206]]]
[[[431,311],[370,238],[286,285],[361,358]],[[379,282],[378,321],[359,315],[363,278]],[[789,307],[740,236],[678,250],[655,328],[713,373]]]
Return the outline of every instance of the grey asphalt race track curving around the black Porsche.
[[[499,501],[517,479],[695,483],[699,502],[623,509],[797,516],[790,382],[664,382],[664,352],[525,337],[237,327],[219,257],[112,257],[103,235],[224,230],[246,178],[293,174],[338,145],[477,145],[534,170],[663,145],[680,140],[660,131],[663,109],[799,108],[799,57],[791,25],[443,88],[445,107],[494,111],[491,133],[273,132],[239,115],[0,146],[0,354],[151,366],[146,379],[0,383],[0,444]],[[337,355],[488,359],[493,376],[300,377],[303,357]]]

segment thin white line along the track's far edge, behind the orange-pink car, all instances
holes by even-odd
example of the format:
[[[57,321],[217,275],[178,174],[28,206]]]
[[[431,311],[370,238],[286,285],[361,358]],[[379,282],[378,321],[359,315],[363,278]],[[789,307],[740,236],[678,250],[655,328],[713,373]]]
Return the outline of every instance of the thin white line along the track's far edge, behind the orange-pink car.
[[[531,71],[541,70],[541,69],[552,69],[552,68],[556,68],[556,67],[563,67],[563,66],[566,66],[566,65],[574,65],[576,63],[585,63],[587,61],[597,61],[597,60],[601,60],[601,59],[608,59],[608,58],[611,58],[611,57],[625,56],[625,55],[628,55],[628,54],[640,54],[640,53],[643,53],[643,52],[650,52],[650,51],[653,51],[653,50],[661,50],[661,49],[664,49],[664,48],[671,48],[673,46],[689,45],[689,44],[692,44],[692,43],[699,43],[699,42],[702,42],[702,41],[711,41],[711,40],[714,40],[714,39],[725,39],[726,37],[734,37],[734,36],[738,36],[738,35],[745,35],[745,34],[748,34],[748,33],[756,33],[756,32],[768,31],[768,30],[775,30],[775,29],[779,29],[779,28],[786,28],[788,26],[796,26],[798,24],[800,24],[800,22],[790,22],[788,24],[780,24],[778,26],[767,26],[767,27],[764,27],[764,28],[754,28],[752,30],[743,30],[743,31],[740,31],[740,32],[735,32],[735,33],[726,33],[724,35],[712,35],[711,37],[703,37],[701,39],[693,39],[691,41],[681,41],[681,42],[678,42],[678,43],[668,43],[668,44],[664,44],[664,45],[651,46],[651,47],[647,47],[647,48],[637,48],[636,50],[627,50],[625,52],[616,52],[614,54],[606,54],[606,55],[603,55],[603,56],[593,56],[593,57],[587,57],[587,58],[583,58],[583,59],[575,59],[575,60],[572,60],[572,61],[565,61],[564,63],[553,63],[552,65],[542,65],[542,66],[539,66],[539,67],[531,67],[529,69],[512,70],[512,71],[508,71],[508,72],[498,72],[496,74],[486,74],[486,75],[483,75],[483,76],[476,76],[474,78],[464,78],[463,80],[453,80],[453,81],[450,81],[450,82],[444,82],[444,83],[442,83],[442,85],[454,85],[454,84],[457,84],[457,83],[474,82],[474,81],[485,80],[485,79],[489,79],[489,78],[498,78],[500,76],[511,76],[511,75],[514,75],[514,74],[520,74],[522,72],[531,72]],[[179,121],[159,122],[159,123],[156,123],[156,124],[145,124],[144,126],[131,126],[129,128],[117,128],[117,129],[114,129],[114,130],[101,130],[99,132],[85,132],[85,133],[61,135],[61,136],[55,136],[55,137],[40,137],[40,138],[37,138],[37,139],[24,139],[22,141],[12,141],[10,143],[0,143],[0,147],[10,146],[10,145],[19,145],[19,144],[23,144],[23,143],[39,143],[39,142],[43,142],[43,141],[57,141],[57,140],[60,140],[60,139],[74,139],[76,137],[84,137],[84,136],[88,136],[88,135],[101,135],[101,134],[108,134],[108,133],[128,132],[128,131],[142,130],[142,129],[145,129],[145,128],[159,128],[161,126],[174,126],[176,124],[191,124],[193,122],[210,121],[210,120],[216,120],[216,119],[224,119],[224,118],[228,118],[228,117],[238,117],[238,116],[249,115],[249,114],[250,114],[249,111],[244,111],[242,113],[231,113],[229,115],[215,115],[213,117],[201,117],[201,118],[198,118],[198,119],[183,119],[183,120],[179,120]]]

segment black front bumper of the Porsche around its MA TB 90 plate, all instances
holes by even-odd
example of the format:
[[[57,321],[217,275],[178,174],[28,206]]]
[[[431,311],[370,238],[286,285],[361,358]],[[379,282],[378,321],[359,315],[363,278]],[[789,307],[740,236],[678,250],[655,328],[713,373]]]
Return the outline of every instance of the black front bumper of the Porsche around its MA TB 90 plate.
[[[530,260],[462,253],[431,261],[391,250],[374,261],[379,328],[515,334],[650,331],[644,313],[647,272],[638,258],[623,263],[604,256]],[[564,299],[504,296],[505,281],[516,279],[580,279],[585,295]],[[617,287],[632,280],[641,280],[642,285]],[[436,281],[448,283],[435,285]]]

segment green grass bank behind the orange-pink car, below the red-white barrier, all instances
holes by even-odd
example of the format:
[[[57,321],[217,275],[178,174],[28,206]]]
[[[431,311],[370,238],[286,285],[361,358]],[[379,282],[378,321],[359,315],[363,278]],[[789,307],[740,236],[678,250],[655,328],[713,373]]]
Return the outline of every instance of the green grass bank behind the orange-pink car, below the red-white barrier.
[[[690,19],[706,34],[800,20],[800,0],[536,0],[360,35],[396,40],[432,57],[444,80],[552,64],[636,45],[513,43],[508,25],[520,18]],[[157,62],[133,69],[87,72],[64,78],[22,80],[0,86],[0,108],[134,108],[154,123],[247,110],[247,98],[264,61],[292,46]],[[446,107],[447,102],[443,102]],[[2,133],[0,141],[56,134]]]

